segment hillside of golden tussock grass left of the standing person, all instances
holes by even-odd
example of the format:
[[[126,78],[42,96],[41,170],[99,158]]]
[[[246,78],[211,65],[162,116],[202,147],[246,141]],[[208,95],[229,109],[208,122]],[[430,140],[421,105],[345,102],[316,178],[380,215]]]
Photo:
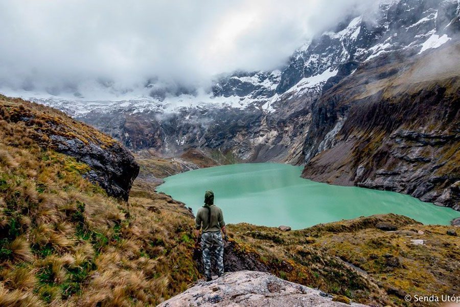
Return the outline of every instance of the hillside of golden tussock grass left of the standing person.
[[[156,305],[197,279],[192,242],[180,239],[193,232],[186,209],[155,193],[108,197],[50,135],[114,142],[51,108],[0,97],[1,306]]]

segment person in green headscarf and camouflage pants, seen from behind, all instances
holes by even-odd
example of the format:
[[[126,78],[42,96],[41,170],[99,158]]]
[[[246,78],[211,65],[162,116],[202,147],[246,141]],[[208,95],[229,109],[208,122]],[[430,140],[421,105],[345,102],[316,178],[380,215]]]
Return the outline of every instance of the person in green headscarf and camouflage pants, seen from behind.
[[[219,277],[223,275],[223,242],[221,230],[225,240],[228,240],[222,210],[214,205],[213,191],[204,193],[204,206],[198,209],[195,218],[195,234],[197,243],[201,243],[203,254],[204,276],[206,281],[211,281],[211,259],[217,262]],[[200,236],[200,229],[202,234]]]

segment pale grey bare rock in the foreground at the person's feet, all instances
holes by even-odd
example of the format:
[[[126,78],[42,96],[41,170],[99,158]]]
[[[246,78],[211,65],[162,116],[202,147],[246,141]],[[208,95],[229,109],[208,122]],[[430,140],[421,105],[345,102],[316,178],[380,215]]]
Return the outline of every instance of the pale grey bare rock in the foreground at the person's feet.
[[[332,296],[269,273],[239,271],[215,280],[198,281],[195,286],[159,304],[182,306],[350,306],[332,301]],[[352,306],[365,306],[351,303]]]

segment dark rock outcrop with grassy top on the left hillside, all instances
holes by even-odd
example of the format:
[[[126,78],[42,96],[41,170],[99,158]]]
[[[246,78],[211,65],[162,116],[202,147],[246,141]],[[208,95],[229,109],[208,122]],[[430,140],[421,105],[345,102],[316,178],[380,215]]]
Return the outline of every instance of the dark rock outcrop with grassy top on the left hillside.
[[[119,142],[50,107],[0,96],[0,115],[24,126],[43,148],[74,157],[89,166],[82,174],[111,196],[128,199],[139,166]]]

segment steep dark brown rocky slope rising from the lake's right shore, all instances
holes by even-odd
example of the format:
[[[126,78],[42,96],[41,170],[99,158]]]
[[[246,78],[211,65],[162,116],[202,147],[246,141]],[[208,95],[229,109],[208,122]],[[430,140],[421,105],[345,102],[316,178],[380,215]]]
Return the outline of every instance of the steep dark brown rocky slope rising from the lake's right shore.
[[[382,58],[321,97],[303,176],[460,209],[460,43]]]

